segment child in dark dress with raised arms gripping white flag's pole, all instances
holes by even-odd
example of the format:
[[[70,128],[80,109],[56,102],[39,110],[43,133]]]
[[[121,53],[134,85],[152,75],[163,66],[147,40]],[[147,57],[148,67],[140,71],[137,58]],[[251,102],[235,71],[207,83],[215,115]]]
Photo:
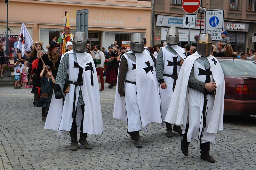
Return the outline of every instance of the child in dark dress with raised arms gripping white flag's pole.
[[[45,122],[45,118],[47,116],[46,110],[50,107],[50,103],[52,100],[52,88],[55,83],[55,79],[52,76],[53,68],[48,68],[48,72],[46,71],[46,65],[43,66],[43,70],[41,71],[39,77],[41,82],[41,96],[40,99],[36,102],[37,107],[42,108],[42,121]]]

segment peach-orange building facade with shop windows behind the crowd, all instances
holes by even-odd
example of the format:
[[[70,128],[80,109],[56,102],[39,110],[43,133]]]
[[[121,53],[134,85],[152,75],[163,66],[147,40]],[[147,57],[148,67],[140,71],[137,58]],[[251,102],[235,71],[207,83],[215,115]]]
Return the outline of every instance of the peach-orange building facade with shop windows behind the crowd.
[[[12,0],[9,3],[9,51],[24,22],[34,41],[45,45],[64,31],[65,11],[69,12],[70,32],[76,30],[76,11],[89,10],[88,43],[108,48],[114,41],[121,46],[132,33],[151,37],[151,2],[148,0]],[[6,5],[0,0],[0,39],[6,39]],[[5,11],[5,12],[4,12]],[[10,54],[12,56],[13,54]]]

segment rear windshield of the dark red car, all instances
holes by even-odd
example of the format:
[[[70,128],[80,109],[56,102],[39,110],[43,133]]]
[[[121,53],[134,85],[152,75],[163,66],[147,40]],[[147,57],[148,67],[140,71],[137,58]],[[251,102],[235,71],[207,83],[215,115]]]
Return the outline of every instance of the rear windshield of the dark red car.
[[[225,76],[256,75],[256,62],[251,60],[220,61]]]

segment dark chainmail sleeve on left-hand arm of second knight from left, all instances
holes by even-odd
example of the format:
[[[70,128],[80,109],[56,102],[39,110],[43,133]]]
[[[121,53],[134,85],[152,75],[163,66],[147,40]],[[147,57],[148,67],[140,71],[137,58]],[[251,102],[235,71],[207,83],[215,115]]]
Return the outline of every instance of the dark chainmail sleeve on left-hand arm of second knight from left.
[[[128,62],[125,57],[122,57],[118,69],[118,84],[117,90],[120,96],[124,96],[124,81],[128,69]]]

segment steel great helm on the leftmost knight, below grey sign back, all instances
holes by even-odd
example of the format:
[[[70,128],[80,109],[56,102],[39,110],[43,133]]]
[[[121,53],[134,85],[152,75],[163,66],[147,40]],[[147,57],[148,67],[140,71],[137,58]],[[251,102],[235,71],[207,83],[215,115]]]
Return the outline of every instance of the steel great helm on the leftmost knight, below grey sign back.
[[[72,44],[74,50],[85,52],[85,48],[87,46],[85,32],[75,32]]]

